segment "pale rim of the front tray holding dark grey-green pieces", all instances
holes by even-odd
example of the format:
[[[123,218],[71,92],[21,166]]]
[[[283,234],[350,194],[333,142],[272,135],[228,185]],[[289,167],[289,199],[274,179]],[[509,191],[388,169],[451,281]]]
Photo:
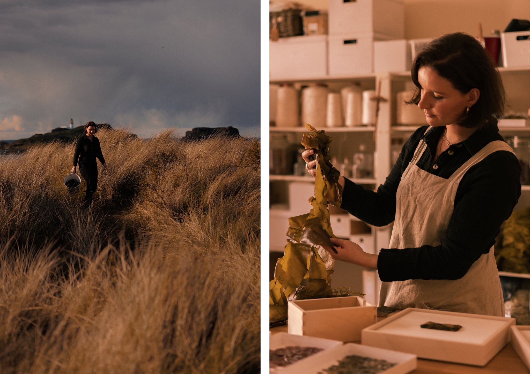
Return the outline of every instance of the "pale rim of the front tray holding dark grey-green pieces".
[[[315,354],[306,358],[303,362],[296,365],[286,367],[282,373],[286,374],[316,374],[323,372],[332,365],[336,365],[339,360],[342,360],[348,355],[356,354],[364,357],[371,357],[379,360],[386,360],[395,363],[395,365],[385,371],[380,371],[378,374],[406,374],[416,369],[417,358],[414,354],[390,351],[387,349],[374,348],[372,346],[360,345],[355,343],[347,343],[335,348],[319,352],[318,356]]]

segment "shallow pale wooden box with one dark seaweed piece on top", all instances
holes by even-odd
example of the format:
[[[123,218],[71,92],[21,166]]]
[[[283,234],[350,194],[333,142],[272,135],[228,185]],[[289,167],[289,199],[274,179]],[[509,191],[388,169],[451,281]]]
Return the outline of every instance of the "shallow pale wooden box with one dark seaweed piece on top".
[[[459,331],[422,329],[426,322],[461,325]],[[510,341],[515,318],[407,308],[366,327],[362,343],[420,358],[484,366]]]

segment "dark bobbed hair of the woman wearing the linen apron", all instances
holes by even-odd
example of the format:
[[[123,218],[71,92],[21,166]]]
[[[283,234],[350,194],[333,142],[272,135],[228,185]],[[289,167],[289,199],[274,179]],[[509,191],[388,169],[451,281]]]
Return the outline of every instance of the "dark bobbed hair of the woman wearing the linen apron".
[[[482,126],[491,117],[500,118],[506,105],[506,94],[499,72],[493,66],[493,60],[471,35],[455,32],[445,34],[426,45],[412,63],[412,81],[418,87],[407,104],[420,102],[421,85],[418,82],[418,70],[425,66],[434,70],[440,77],[447,79],[462,94],[478,88],[478,101],[463,113],[457,122],[463,127]]]

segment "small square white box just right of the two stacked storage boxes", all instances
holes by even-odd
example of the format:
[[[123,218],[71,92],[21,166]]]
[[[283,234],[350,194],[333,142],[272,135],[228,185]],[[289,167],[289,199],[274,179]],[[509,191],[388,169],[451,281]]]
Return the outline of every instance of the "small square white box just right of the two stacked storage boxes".
[[[405,40],[374,41],[374,72],[408,71],[411,66],[410,43]]]

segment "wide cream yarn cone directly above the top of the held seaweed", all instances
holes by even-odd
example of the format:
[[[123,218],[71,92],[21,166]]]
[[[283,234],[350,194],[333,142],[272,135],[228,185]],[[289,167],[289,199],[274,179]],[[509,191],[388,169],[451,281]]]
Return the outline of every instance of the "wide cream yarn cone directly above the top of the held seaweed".
[[[315,85],[302,90],[302,123],[313,127],[326,125],[326,109],[330,90],[322,85]]]

